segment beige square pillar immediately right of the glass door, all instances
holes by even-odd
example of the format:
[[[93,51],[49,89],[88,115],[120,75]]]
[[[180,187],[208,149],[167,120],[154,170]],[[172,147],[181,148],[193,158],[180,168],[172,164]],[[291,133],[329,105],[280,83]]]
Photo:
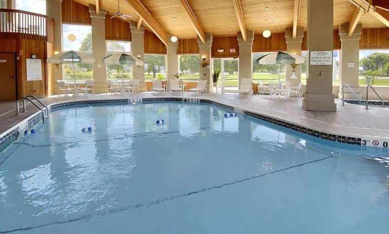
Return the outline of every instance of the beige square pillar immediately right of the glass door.
[[[246,41],[243,41],[241,32],[237,34],[239,45],[239,84],[242,78],[250,78],[253,82],[254,31],[246,31]]]

